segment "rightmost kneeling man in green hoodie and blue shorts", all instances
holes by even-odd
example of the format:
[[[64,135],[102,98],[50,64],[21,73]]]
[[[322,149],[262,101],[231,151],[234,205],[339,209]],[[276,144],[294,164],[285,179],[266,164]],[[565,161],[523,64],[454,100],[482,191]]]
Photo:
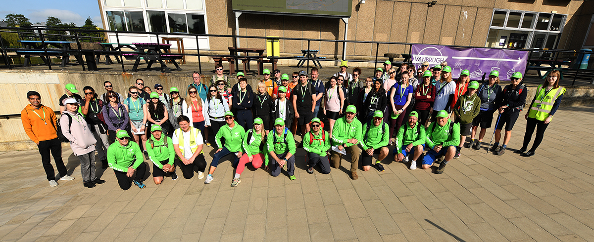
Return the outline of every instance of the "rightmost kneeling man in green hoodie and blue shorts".
[[[435,170],[436,174],[444,173],[445,165],[454,158],[456,145],[460,144],[460,125],[451,122],[445,110],[437,112],[436,121],[432,122],[426,129],[425,144],[429,151],[423,158],[422,168],[428,169],[433,165],[437,157],[443,155],[444,161],[435,161],[440,167]]]

